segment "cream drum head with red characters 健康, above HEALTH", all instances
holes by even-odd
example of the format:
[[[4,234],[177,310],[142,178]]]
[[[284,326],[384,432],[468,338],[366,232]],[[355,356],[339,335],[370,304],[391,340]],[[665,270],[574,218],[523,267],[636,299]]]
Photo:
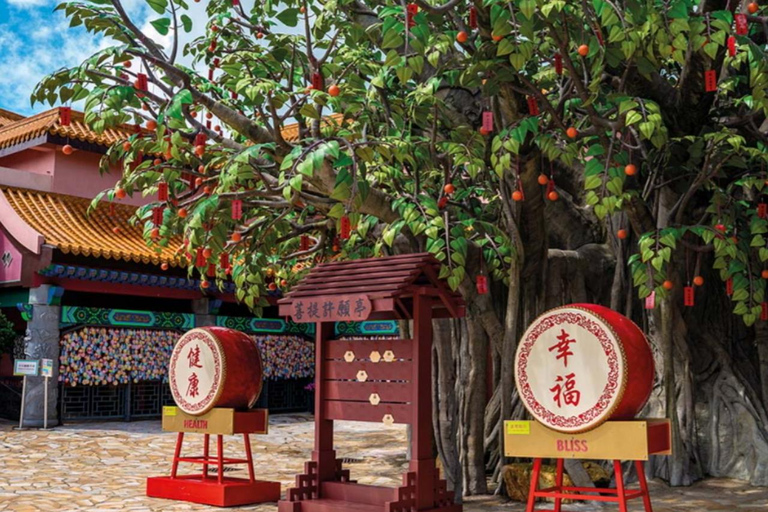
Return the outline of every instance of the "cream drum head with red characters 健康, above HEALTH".
[[[168,379],[179,409],[194,415],[213,409],[222,392],[226,359],[216,337],[205,329],[184,334],[171,353]]]

